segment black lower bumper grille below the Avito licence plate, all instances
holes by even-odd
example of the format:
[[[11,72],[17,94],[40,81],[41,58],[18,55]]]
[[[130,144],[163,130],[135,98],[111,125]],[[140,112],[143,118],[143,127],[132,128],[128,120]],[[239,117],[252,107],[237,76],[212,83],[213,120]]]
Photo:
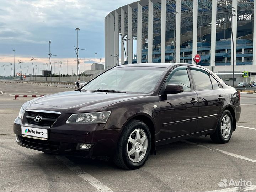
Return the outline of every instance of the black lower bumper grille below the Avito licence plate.
[[[20,137],[23,145],[32,146],[40,149],[58,150],[60,142],[45,141],[39,139],[32,139],[28,137]]]

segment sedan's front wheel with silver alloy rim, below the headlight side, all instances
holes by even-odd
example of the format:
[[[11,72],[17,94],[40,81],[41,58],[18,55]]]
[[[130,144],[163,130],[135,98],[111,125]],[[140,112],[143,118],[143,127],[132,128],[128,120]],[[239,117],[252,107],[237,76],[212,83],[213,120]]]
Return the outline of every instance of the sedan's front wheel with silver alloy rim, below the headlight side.
[[[131,120],[123,129],[114,163],[123,169],[138,169],[142,167],[151,149],[151,134],[148,126],[139,120]]]

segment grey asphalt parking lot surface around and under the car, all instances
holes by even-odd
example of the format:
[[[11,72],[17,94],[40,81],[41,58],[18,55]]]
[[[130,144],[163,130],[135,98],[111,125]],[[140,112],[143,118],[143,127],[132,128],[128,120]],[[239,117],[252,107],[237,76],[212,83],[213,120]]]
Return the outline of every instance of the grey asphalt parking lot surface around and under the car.
[[[229,143],[207,136],[162,145],[142,168],[127,171],[112,161],[50,155],[16,143],[12,123],[32,97],[10,94],[71,89],[0,82],[0,91],[0,191],[256,191],[256,94],[241,94],[241,117]],[[222,186],[231,180],[251,185]]]

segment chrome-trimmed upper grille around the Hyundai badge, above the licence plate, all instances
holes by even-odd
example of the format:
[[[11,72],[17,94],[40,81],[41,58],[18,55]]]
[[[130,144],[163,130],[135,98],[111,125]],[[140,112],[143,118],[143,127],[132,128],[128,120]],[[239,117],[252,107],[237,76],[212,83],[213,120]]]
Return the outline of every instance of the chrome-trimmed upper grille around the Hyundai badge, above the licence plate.
[[[34,121],[34,117],[36,116],[41,116],[42,120],[39,122]],[[26,123],[46,127],[52,126],[52,124],[56,121],[56,119],[59,116],[59,114],[55,113],[42,113],[33,111],[26,111],[25,113]]]

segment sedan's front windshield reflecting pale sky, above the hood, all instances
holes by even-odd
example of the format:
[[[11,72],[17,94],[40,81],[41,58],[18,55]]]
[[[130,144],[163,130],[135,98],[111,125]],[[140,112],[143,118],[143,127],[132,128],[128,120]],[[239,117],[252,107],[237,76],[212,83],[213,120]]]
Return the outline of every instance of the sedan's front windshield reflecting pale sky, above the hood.
[[[161,67],[118,67],[98,76],[82,90],[111,90],[133,94],[153,91],[166,68]]]

